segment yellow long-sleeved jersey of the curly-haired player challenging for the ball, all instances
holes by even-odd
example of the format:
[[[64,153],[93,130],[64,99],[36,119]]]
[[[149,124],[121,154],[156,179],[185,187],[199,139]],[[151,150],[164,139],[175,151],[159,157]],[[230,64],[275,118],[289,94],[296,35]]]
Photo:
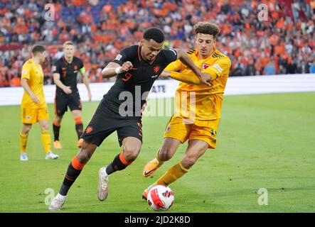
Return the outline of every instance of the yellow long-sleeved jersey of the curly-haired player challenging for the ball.
[[[199,67],[201,72],[211,74],[211,87],[206,84],[195,85],[181,82],[176,90],[177,114],[184,118],[191,118],[191,113],[193,113],[195,115],[193,118],[196,118],[196,120],[215,120],[220,118],[223,93],[230,72],[230,58],[223,55],[216,48],[213,48],[212,55],[205,59],[198,57],[198,50],[189,50],[187,55]],[[171,62],[165,70],[179,71],[183,74],[192,74],[192,76],[197,77],[180,60]],[[185,108],[183,108],[183,103],[186,103]],[[178,106],[181,106],[181,108],[178,108]]]

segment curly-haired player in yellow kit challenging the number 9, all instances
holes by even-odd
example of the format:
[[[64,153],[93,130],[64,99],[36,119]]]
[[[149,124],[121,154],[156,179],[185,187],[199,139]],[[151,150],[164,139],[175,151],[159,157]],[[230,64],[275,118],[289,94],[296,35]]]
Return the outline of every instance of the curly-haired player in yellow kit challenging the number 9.
[[[178,145],[186,140],[188,148],[180,162],[144,190],[144,199],[151,187],[157,184],[171,184],[185,175],[208,148],[215,149],[217,144],[215,135],[231,62],[229,57],[215,48],[218,26],[199,22],[194,26],[194,31],[196,49],[189,50],[187,55],[199,67],[203,79],[210,82],[211,86],[201,84],[200,79],[178,60],[165,68],[162,74],[164,77],[181,81],[176,91],[177,110],[166,126],[164,141],[156,153],[156,158],[146,164],[143,176],[151,176],[164,162],[173,157]]]

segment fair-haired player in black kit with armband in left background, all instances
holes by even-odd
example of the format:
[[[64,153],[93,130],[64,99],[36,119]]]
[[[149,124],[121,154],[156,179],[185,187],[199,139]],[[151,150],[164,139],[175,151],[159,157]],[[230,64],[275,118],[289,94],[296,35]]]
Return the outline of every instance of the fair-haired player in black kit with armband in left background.
[[[68,106],[75,120],[75,131],[78,134],[78,148],[82,145],[80,136],[83,130],[82,104],[77,87],[77,74],[80,72],[82,81],[87,88],[87,96],[91,101],[92,95],[85,67],[79,57],[75,57],[75,45],[71,41],[63,44],[63,57],[60,57],[53,65],[53,81],[55,90],[55,119],[53,120],[54,148],[63,148],[59,141],[59,133],[63,114],[68,111]]]

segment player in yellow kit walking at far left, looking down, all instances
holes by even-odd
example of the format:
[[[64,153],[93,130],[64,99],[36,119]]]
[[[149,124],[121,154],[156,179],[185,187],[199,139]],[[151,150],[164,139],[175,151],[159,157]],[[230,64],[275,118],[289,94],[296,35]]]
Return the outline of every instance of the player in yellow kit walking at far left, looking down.
[[[20,160],[27,161],[26,144],[28,132],[32,124],[38,122],[41,126],[41,141],[46,152],[45,159],[56,159],[50,150],[49,116],[43,92],[44,74],[41,63],[46,59],[46,48],[43,45],[34,45],[32,58],[22,67],[21,85],[24,89],[21,103],[22,130],[20,133]]]

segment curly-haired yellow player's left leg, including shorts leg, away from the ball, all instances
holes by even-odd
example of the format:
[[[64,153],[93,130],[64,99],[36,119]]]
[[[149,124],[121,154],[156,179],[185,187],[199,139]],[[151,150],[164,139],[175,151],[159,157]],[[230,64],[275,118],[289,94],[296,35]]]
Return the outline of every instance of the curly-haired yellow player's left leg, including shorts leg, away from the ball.
[[[188,134],[191,131],[191,125],[186,124],[180,116],[172,116],[166,126],[164,132],[164,141],[156,153],[156,158],[151,160],[144,167],[142,175],[149,177],[161,166],[163,163],[176,153],[178,145],[185,142]]]

